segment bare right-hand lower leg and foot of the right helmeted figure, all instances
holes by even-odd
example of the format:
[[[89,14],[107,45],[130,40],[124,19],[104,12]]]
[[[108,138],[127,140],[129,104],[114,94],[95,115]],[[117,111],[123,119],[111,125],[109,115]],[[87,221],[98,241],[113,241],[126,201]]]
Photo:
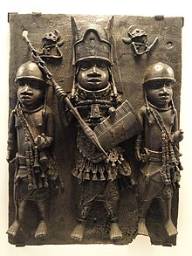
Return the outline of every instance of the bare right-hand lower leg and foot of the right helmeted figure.
[[[171,194],[170,194],[171,195]],[[175,228],[175,225],[173,224],[172,218],[171,218],[171,196],[168,197],[161,197],[160,198],[160,204],[161,204],[161,215],[163,218],[164,227],[166,229],[166,232],[168,233],[168,236],[174,236],[178,232]]]

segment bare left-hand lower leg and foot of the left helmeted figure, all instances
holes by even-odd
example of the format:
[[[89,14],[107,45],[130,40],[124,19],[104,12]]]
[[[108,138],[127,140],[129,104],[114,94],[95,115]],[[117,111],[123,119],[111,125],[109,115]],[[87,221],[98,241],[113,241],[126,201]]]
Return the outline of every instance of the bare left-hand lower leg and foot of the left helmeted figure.
[[[10,228],[6,232],[9,235],[15,237],[17,232],[24,220],[24,209],[25,209],[26,201],[22,201],[19,204],[16,204],[16,218]]]

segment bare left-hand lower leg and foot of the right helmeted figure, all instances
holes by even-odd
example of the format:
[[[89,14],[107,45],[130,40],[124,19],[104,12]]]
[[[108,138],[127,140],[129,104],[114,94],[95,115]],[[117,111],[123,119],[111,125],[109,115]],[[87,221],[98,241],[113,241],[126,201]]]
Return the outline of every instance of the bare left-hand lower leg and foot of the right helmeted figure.
[[[138,235],[148,236],[146,226],[147,210],[149,209],[152,200],[142,201],[139,206],[139,223],[138,223]]]

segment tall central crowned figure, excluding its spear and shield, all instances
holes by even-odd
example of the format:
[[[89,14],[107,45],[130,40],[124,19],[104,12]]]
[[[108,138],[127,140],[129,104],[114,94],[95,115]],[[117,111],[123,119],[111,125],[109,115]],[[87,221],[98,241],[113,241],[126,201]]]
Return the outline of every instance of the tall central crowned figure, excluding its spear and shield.
[[[88,29],[84,37],[73,45],[73,51],[75,75],[70,100],[94,132],[102,121],[116,114],[117,107],[122,103],[111,70],[112,45],[108,40],[101,39],[97,30]],[[73,116],[62,100],[60,102],[59,115],[67,126]],[[77,157],[72,175],[79,181],[79,198],[77,225],[72,231],[72,239],[83,239],[86,220],[96,201],[102,202],[106,210],[110,239],[122,238],[118,225],[119,178],[127,176],[129,180],[131,169],[123,156],[123,149],[118,145],[111,149],[107,145],[106,148],[105,154],[78,124]]]

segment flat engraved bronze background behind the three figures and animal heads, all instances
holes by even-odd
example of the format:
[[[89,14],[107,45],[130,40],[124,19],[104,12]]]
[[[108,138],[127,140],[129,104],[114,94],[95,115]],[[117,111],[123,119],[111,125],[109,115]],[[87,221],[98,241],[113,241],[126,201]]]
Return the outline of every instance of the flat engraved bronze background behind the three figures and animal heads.
[[[74,15],[79,28],[80,38],[90,24],[98,29],[101,38],[104,36],[104,28],[111,16],[79,16]],[[17,103],[17,91],[14,83],[17,68],[24,62],[32,59],[28,45],[22,38],[24,30],[29,31],[29,38],[35,48],[40,49],[41,39],[46,32],[53,32],[57,29],[61,39],[65,44],[61,46],[63,59],[49,63],[51,73],[55,80],[65,91],[70,92],[72,88],[73,67],[72,67],[72,27],[70,15],[51,14],[17,14],[10,13],[10,111]],[[130,45],[122,42],[122,38],[127,38],[128,28],[134,25],[147,32],[148,44],[158,37],[158,42],[149,54],[144,54],[141,58],[135,58],[131,52]],[[143,104],[142,78],[147,66],[161,61],[167,63],[175,71],[176,84],[174,87],[174,101],[178,112],[180,110],[181,92],[181,70],[182,70],[182,17],[132,17],[114,16],[113,25],[113,74],[119,92],[123,99],[130,101],[135,112]],[[17,238],[11,239],[10,243],[16,245],[41,245],[41,244],[74,244],[76,241],[70,238],[73,227],[76,224],[75,211],[75,186],[76,181],[72,179],[71,170],[75,161],[75,128],[63,128],[58,119],[57,100],[54,93],[49,89],[48,105],[52,108],[56,116],[56,141],[54,144],[54,154],[60,165],[60,172],[65,182],[65,193],[58,194],[58,197],[51,197],[49,234],[44,239],[33,239],[33,230],[38,224],[38,211],[35,205],[31,204],[26,214],[26,225]],[[133,157],[134,139],[124,142],[127,159],[130,161],[134,175],[137,175],[137,164]],[[9,220],[14,220],[15,207],[13,202],[13,173],[14,165],[10,164],[9,183]],[[176,225],[178,214],[178,190],[173,197],[173,220]],[[135,199],[134,188],[127,187],[120,195],[120,229],[123,232],[123,239],[118,244],[128,244],[136,236],[138,211]],[[102,204],[94,207],[87,221],[85,244],[112,243],[108,239],[108,224],[105,220],[105,211]],[[30,221],[29,221],[30,220]],[[149,235],[152,244],[175,245],[175,238],[168,238],[161,226],[160,212],[156,202],[151,207],[147,223],[149,225]],[[32,232],[31,232],[32,231]]]

